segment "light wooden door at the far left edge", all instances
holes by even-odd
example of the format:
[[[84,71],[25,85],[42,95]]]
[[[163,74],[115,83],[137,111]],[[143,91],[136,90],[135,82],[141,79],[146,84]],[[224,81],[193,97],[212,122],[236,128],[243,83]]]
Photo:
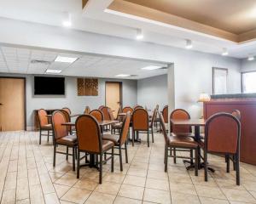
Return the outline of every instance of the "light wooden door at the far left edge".
[[[0,131],[25,129],[25,79],[0,78]]]

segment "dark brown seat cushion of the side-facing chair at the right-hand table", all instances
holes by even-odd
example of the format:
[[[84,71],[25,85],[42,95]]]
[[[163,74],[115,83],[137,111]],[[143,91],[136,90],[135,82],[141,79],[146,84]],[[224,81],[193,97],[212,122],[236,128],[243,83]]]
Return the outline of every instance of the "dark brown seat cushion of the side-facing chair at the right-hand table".
[[[196,148],[198,144],[194,141],[194,139],[190,137],[183,136],[175,136],[169,137],[169,145],[172,147],[180,147],[180,148]]]

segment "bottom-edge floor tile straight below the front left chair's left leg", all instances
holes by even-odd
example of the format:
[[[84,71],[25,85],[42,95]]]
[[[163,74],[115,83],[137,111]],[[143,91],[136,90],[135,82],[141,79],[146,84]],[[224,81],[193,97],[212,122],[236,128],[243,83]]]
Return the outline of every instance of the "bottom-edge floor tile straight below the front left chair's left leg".
[[[86,201],[86,199],[90,196],[90,193],[90,190],[71,188],[65,195],[61,197],[61,200],[75,203],[84,203],[84,201]]]

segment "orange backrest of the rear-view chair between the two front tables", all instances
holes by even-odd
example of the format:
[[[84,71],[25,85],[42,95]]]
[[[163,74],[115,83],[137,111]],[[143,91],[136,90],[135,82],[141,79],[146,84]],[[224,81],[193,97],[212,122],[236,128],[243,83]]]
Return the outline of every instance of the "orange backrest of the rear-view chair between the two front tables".
[[[132,113],[132,127],[134,130],[148,130],[148,111],[137,109]]]

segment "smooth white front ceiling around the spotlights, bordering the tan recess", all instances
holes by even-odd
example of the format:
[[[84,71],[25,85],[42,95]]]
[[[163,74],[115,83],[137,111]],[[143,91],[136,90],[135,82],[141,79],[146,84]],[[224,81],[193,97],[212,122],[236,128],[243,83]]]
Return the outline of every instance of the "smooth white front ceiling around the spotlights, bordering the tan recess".
[[[236,58],[242,59],[248,54],[256,54],[256,42],[237,44],[175,26],[114,14],[106,10],[112,2],[113,0],[89,0],[88,6],[82,10],[81,0],[0,0],[0,16],[61,26],[63,12],[68,11],[73,20],[70,29],[134,39],[136,29],[143,28],[145,42],[184,48],[184,39],[188,38],[193,41],[193,50],[204,53],[221,54],[222,48],[225,47],[229,49],[230,56]]]

